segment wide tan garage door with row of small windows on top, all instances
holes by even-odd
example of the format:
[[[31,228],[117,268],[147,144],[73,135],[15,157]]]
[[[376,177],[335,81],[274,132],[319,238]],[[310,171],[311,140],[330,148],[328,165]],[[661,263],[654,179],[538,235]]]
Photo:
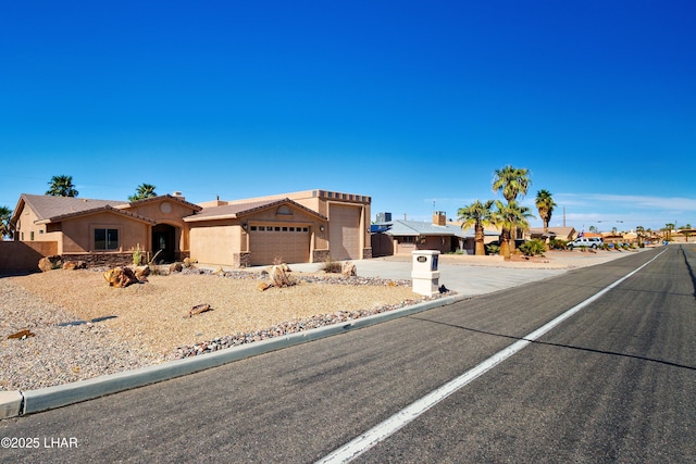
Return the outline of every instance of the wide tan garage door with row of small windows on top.
[[[309,262],[309,227],[297,225],[254,225],[249,230],[251,265]]]

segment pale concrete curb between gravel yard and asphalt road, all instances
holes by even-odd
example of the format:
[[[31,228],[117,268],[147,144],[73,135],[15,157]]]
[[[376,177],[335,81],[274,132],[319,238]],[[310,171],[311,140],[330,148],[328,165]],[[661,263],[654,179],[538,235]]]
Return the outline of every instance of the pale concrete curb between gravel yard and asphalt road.
[[[0,419],[26,414],[48,411],[55,407],[82,401],[92,400],[120,391],[125,391],[146,385],[170,380],[188,374],[194,374],[211,367],[239,361],[258,354],[306,343],[349,330],[369,327],[398,317],[417,314],[434,308],[445,306],[471,298],[470,296],[453,296],[425,301],[399,310],[387,311],[372,316],[318,327],[306,331],[274,337],[253,343],[226,348],[200,356],[169,361],[159,365],[142,367],[134,371],[105,375],[88,380],[79,380],[55,387],[40,388],[28,391],[0,391]]]

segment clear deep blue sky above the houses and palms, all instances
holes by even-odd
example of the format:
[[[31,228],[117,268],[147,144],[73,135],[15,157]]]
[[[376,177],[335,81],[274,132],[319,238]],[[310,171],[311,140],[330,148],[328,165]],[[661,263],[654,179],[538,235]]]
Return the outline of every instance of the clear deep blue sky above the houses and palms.
[[[430,221],[511,164],[551,225],[696,226],[695,23],[669,0],[3,2],[0,205],[64,174]]]

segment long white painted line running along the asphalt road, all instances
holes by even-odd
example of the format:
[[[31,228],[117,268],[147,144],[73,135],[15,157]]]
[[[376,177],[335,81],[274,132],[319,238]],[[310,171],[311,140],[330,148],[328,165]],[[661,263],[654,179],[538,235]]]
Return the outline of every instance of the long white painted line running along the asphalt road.
[[[589,297],[587,300],[583,301],[582,303],[579,303],[575,306],[571,308],[570,310],[566,311],[563,314],[546,323],[542,327],[529,334],[526,337],[523,337],[521,340],[515,341],[509,347],[498,351],[497,353],[495,353],[494,355],[492,355],[490,358],[488,358],[477,366],[467,371],[461,376],[448,381],[442,387],[438,387],[436,390],[433,390],[432,392],[427,393],[425,397],[414,401],[413,403],[406,406],[398,413],[394,414],[391,417],[387,418],[383,423],[377,424],[370,430],[365,431],[364,434],[361,434],[359,437],[355,438],[353,440],[349,441],[348,443],[344,444],[343,447],[338,448],[337,450],[333,451],[332,453],[316,461],[316,463],[332,463],[332,464],[348,463],[355,460],[356,457],[358,457],[365,451],[370,450],[382,440],[388,438],[389,436],[394,435],[396,431],[401,429],[403,426],[414,421],[418,416],[420,416],[425,411],[433,407],[435,404],[443,401],[445,398],[449,397],[450,394],[452,394],[460,388],[464,387],[469,383],[473,381],[475,378],[482,376],[486,372],[490,371],[493,367],[500,364],[502,361],[507,360],[508,358],[512,356],[513,354],[515,354],[517,352],[525,348],[527,344],[532,343],[534,340],[542,337],[544,334],[546,334],[557,325],[561,324],[567,318],[580,312],[589,303],[602,297],[609,290],[613,289],[614,287],[620,285],[622,281],[624,281],[629,277],[633,276],[638,271],[641,271],[642,268],[650,264],[652,261],[657,260],[667,250],[660,252],[658,255],[652,258],[647,263],[643,264],[641,267],[621,277],[619,280],[614,281],[613,284],[606,287],[605,289],[598,291],[597,293]]]

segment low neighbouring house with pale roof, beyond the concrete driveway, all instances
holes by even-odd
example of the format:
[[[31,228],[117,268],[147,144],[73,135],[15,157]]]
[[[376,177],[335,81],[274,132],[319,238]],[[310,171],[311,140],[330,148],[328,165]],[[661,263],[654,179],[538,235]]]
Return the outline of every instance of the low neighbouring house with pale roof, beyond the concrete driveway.
[[[473,254],[475,233],[473,227],[461,228],[448,223],[444,213],[433,214],[433,222],[390,221],[372,226],[372,252],[375,256],[411,254],[414,250],[438,250],[452,253],[458,250]],[[485,230],[486,243],[499,236],[498,230]]]

